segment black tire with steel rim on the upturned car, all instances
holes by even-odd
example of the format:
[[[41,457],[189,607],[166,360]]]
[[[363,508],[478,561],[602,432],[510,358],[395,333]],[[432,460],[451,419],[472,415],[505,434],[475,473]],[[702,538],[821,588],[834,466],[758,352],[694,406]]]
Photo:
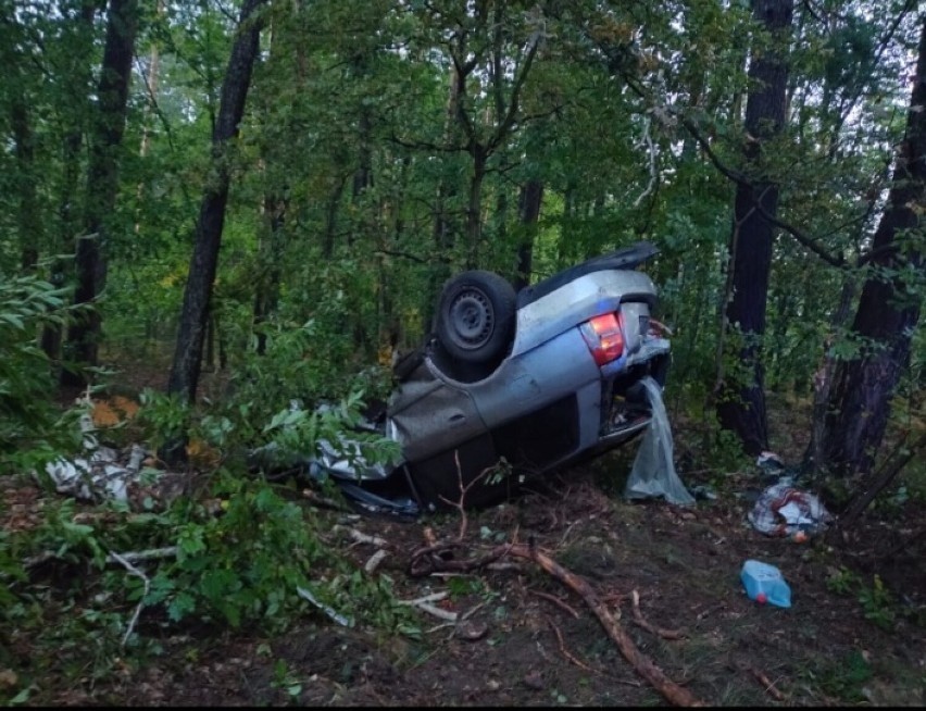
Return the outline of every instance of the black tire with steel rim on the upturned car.
[[[473,270],[443,287],[435,332],[443,349],[465,363],[501,360],[514,333],[514,287],[498,274]]]

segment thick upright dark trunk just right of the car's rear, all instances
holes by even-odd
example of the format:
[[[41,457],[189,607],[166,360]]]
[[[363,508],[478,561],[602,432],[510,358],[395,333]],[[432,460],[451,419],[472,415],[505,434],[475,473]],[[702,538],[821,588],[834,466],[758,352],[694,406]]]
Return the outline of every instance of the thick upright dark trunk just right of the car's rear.
[[[774,39],[790,30],[793,0],[754,0],[752,11]],[[761,177],[762,141],[777,134],[785,123],[787,63],[775,51],[756,52],[749,78],[746,157],[749,172],[758,177],[749,185],[739,184],[736,191],[729,248],[733,295],[726,305],[725,326],[728,333],[739,335],[734,356],[737,373],[727,371],[726,378],[717,384],[717,415],[724,428],[737,433],[747,453],[755,456],[768,448],[761,341],[774,226],[763,213],[774,216],[778,208],[777,185]]]

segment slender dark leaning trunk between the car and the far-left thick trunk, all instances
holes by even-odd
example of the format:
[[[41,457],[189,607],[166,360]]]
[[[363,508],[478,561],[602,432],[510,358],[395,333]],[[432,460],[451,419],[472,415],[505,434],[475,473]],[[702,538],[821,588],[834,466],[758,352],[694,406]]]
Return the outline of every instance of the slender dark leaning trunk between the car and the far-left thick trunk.
[[[218,248],[225,223],[225,205],[230,182],[230,141],[238,135],[238,124],[245,114],[245,101],[251,83],[251,72],[258,55],[261,26],[251,15],[265,0],[246,0],[241,9],[238,36],[232,48],[228,68],[222,84],[218,116],[212,134],[212,164],[215,177],[205,186],[196,226],[196,244],[190,259],[184,305],[174,362],[167,392],[187,402],[196,400],[202,367],[202,346],[215,272]],[[167,452],[178,454],[176,448]]]

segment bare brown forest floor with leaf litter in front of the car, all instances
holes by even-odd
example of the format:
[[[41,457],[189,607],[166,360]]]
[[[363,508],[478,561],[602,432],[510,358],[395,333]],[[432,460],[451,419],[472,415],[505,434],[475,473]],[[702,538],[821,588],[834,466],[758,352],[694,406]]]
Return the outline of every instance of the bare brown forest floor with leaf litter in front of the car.
[[[800,432],[783,412],[777,453],[796,461]],[[697,436],[684,424],[674,428],[685,459]],[[389,575],[401,599],[445,594],[434,604],[455,612],[455,624],[422,612],[418,639],[347,628],[321,613],[274,637],[174,627],[160,640],[163,653],[116,663],[97,679],[65,674],[52,661],[40,670],[46,662],[35,658],[28,702],[660,706],[678,694],[711,706],[926,703],[922,506],[881,508],[836,542],[769,538],[747,521],[761,490],[758,467],[719,478],[679,467],[689,487],[709,485],[716,498],[692,507],[630,503],[614,484],[630,465],[630,449],[551,477],[542,490],[470,511],[465,522],[455,513],[401,522],[318,510],[333,531],[340,523],[340,531],[381,538],[374,546],[333,534],[331,545],[359,566],[381,548],[375,574]],[[524,544],[593,596],[527,558],[412,576],[413,551],[434,539],[460,542],[456,560]],[[739,573],[747,559],[783,571],[792,607],[746,596]],[[614,621],[610,629],[601,610]],[[664,674],[662,691],[641,675],[648,663]],[[0,693],[2,684],[0,669]]]

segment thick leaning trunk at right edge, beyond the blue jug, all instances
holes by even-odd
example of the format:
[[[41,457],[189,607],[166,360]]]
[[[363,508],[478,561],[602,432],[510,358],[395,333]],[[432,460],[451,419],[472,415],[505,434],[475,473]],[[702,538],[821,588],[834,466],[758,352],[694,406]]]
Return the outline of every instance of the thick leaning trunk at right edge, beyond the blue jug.
[[[822,413],[814,464],[838,476],[872,471],[890,415],[890,398],[910,361],[913,330],[922,298],[910,274],[923,277],[921,240],[906,241],[922,229],[926,204],[926,18],[919,37],[906,133],[897,153],[888,203],[875,232],[869,262],[852,324],[859,358],[838,361]],[[906,276],[904,277],[904,273]],[[821,461],[822,460],[822,461]]]

